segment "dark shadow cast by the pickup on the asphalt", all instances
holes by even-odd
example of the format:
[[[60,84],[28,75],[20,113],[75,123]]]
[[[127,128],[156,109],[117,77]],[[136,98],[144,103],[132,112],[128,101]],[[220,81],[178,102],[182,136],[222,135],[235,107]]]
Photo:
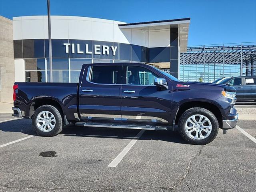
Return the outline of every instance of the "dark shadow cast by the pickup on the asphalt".
[[[0,130],[3,132],[20,132],[28,135],[35,135],[36,132],[32,128],[31,120],[19,119],[0,123]],[[81,127],[72,124],[64,126],[60,135],[69,137],[94,137],[94,138],[113,138],[113,139],[134,139],[140,130],[134,129],[119,129],[119,128],[95,128],[95,127]],[[162,140],[166,142],[174,142],[180,144],[187,144],[182,139],[178,130],[174,132],[168,131],[151,131],[146,132],[138,138],[139,140]]]

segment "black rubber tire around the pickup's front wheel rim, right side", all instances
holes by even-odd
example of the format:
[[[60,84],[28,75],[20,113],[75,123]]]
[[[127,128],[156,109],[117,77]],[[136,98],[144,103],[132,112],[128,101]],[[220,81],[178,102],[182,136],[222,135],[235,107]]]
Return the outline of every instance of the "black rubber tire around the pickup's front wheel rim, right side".
[[[212,131],[210,132],[209,136],[207,136],[206,138],[201,139],[201,140],[196,140],[196,139],[191,138],[190,136],[188,136],[188,134],[186,133],[186,130],[185,130],[186,129],[185,128],[186,120],[190,116],[196,115],[196,114],[206,116],[212,124]],[[179,127],[180,135],[182,136],[182,138],[184,138],[184,140],[186,140],[187,142],[189,142],[191,144],[205,145],[205,144],[212,142],[216,138],[216,136],[218,134],[218,130],[219,130],[219,123],[218,123],[217,118],[214,116],[214,114],[212,114],[212,112],[210,112],[207,109],[197,107],[197,108],[190,108],[190,109],[186,110],[180,116],[178,127]]]

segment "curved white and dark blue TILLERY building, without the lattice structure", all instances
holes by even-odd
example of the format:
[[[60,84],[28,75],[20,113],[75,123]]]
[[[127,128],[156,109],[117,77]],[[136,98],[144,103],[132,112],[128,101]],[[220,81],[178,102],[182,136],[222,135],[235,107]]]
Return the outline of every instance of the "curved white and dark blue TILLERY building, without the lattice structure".
[[[178,77],[189,24],[190,18],[125,23],[51,16],[53,82],[77,82],[82,64],[100,62],[142,62]],[[14,81],[50,82],[47,16],[1,17],[1,39],[9,42],[1,60],[10,59],[1,61],[1,101]]]

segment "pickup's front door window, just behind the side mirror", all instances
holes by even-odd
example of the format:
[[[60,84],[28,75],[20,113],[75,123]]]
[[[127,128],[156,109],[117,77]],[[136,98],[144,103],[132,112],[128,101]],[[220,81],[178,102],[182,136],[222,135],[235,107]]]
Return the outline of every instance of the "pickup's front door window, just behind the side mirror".
[[[128,85],[154,85],[159,76],[144,67],[127,66],[126,77]]]

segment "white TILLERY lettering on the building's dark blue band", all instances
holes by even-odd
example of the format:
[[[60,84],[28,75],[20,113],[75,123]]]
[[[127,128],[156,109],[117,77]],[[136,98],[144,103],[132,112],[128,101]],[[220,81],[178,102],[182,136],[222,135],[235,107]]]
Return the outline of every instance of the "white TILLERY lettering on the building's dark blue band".
[[[69,53],[69,48],[70,48],[70,45],[71,45],[71,52],[72,53],[75,53],[75,44],[72,43],[63,43],[63,46],[65,46],[65,50],[66,50],[66,53]],[[101,46],[100,45],[94,45],[94,54],[97,54],[97,55],[100,55],[100,54],[103,54],[103,55],[109,55],[110,54],[110,50],[112,51],[112,54],[113,56],[116,55],[116,50],[117,50],[117,46],[107,46],[107,45],[103,45],[102,46],[102,50],[100,50]],[[85,45],[85,51],[82,47],[80,47],[80,44],[76,44],[76,53],[78,54],[84,54],[84,52],[86,54],[92,54],[92,51],[89,50],[89,44],[86,44]]]

